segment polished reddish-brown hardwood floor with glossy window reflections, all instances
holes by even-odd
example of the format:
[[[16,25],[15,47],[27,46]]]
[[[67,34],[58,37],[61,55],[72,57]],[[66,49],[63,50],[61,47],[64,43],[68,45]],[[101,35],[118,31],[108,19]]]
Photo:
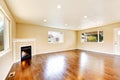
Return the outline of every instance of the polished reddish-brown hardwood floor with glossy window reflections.
[[[120,80],[120,56],[71,50],[15,63],[6,80]]]

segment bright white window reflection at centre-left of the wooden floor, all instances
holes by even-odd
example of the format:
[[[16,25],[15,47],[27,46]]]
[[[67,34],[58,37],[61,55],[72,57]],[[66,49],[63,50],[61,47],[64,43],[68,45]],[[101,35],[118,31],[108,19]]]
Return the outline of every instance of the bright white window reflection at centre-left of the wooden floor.
[[[55,80],[57,75],[62,78],[64,71],[66,69],[65,56],[53,56],[46,60],[45,73],[46,80]]]

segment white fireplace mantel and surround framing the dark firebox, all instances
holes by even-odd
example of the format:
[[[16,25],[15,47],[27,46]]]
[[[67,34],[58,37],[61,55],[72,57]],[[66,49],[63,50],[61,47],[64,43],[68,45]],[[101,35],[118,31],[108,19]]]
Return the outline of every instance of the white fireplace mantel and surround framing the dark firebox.
[[[14,62],[21,59],[21,47],[32,46],[32,56],[36,54],[36,39],[14,39],[13,40],[13,58]]]

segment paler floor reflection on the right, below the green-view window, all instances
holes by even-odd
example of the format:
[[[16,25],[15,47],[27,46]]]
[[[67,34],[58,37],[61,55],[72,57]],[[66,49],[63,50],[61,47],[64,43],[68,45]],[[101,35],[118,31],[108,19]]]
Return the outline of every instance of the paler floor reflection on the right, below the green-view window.
[[[104,76],[104,60],[100,57],[96,58],[93,55],[82,52],[80,54],[79,73],[84,79],[103,79]],[[96,74],[97,73],[97,74]],[[84,76],[83,76],[84,75]],[[85,77],[87,75],[91,75]],[[101,77],[101,78],[100,78]]]

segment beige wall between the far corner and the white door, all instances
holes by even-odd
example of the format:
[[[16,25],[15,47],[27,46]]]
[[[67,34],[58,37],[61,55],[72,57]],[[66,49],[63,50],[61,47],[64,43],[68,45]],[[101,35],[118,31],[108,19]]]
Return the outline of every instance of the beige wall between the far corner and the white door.
[[[78,36],[78,49],[113,54],[114,28],[120,28],[120,23],[115,23],[115,24],[101,26],[98,28],[77,31],[77,33],[78,33],[78,35],[77,35]],[[103,43],[96,43],[96,42],[81,43],[81,33],[97,31],[97,30],[103,31],[103,34],[104,34],[104,42]]]

